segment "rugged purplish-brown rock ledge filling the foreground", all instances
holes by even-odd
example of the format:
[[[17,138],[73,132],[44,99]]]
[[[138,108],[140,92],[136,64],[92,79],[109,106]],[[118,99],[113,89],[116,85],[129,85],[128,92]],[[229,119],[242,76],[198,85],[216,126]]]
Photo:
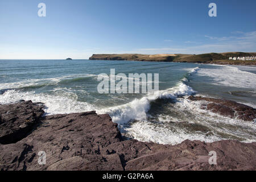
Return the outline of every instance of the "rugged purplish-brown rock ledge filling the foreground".
[[[108,114],[43,114],[43,105],[31,101],[0,105],[1,170],[256,169],[256,143],[146,143],[124,140]],[[44,165],[39,151],[46,152]],[[216,165],[208,162],[210,151],[217,153]]]

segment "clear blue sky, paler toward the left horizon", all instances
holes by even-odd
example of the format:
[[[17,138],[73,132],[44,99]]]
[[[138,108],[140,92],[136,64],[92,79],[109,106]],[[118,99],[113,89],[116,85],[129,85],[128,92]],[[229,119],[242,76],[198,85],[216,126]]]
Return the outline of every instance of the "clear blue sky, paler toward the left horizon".
[[[217,17],[208,15],[211,2]],[[255,22],[249,0],[1,0],[0,59],[256,52]]]

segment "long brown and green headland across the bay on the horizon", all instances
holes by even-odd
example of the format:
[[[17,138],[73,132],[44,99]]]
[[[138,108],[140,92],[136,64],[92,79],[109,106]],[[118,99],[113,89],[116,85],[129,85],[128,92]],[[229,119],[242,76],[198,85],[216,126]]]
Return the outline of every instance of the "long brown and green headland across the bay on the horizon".
[[[133,61],[167,61],[167,62],[189,62],[207,64],[233,64],[233,65],[256,65],[255,60],[229,60],[230,57],[256,56],[256,52],[224,52],[204,53],[200,55],[191,54],[93,54],[90,60],[133,60]]]

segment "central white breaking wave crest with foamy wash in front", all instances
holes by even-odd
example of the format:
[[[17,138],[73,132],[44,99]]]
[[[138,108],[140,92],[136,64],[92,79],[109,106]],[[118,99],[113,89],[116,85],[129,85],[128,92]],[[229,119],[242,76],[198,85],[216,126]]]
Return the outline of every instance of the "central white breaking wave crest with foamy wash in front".
[[[188,74],[191,76],[201,70],[204,68],[192,68]],[[201,109],[202,102],[191,102],[184,98],[196,92],[184,83],[188,81],[187,78],[183,78],[181,81],[173,88],[160,91],[158,96],[145,96],[140,100],[136,99],[128,104],[110,107],[98,112],[110,114],[113,122],[119,124],[126,137],[143,142],[177,144],[185,139],[204,142],[215,142],[222,139],[237,139],[242,142],[256,141],[254,134],[256,127],[253,123],[230,119]],[[172,108],[170,112],[178,111],[180,115],[178,117],[175,114],[151,117],[148,113],[151,102],[158,99],[175,100],[175,104],[170,107]],[[127,123],[129,123],[129,127],[126,127]],[[168,126],[168,123],[177,124]],[[195,127],[195,131],[190,131],[185,127],[189,129]]]

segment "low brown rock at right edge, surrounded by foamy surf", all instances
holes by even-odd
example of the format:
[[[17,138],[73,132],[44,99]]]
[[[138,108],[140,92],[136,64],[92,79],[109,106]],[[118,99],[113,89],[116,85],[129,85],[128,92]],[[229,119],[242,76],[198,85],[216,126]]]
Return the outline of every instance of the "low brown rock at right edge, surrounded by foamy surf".
[[[201,109],[207,109],[213,113],[224,115],[226,117],[238,118],[244,121],[253,121],[253,119],[256,118],[256,109],[244,104],[237,103],[235,101],[195,96],[190,96],[189,100],[207,101],[207,104],[201,105]]]

